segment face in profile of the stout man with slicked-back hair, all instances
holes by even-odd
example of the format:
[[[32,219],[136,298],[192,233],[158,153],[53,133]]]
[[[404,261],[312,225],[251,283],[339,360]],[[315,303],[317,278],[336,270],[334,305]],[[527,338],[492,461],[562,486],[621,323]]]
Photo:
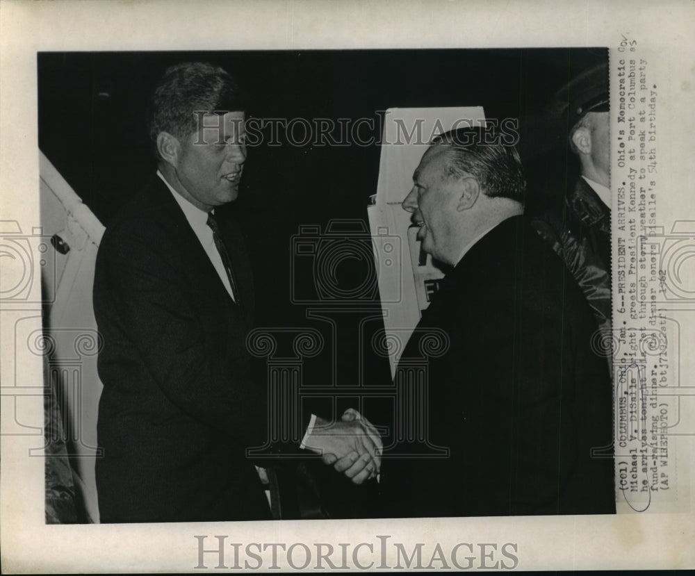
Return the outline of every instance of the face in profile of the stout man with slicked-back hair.
[[[448,149],[448,145],[434,145],[425,152],[402,207],[413,214],[412,222],[420,227],[418,240],[423,250],[443,263],[455,265],[461,249],[457,241],[461,187],[457,179],[446,174]]]

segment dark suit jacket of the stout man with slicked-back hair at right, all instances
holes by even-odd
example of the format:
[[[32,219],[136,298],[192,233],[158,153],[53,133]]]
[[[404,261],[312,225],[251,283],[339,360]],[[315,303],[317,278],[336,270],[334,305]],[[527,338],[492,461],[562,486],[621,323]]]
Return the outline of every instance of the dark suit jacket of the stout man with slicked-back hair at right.
[[[418,327],[450,340],[425,381],[428,440],[450,456],[386,457],[389,515],[614,512],[613,461],[590,455],[612,441],[612,388],[590,346],[596,325],[524,217],[473,245]],[[420,355],[411,338],[403,359]]]

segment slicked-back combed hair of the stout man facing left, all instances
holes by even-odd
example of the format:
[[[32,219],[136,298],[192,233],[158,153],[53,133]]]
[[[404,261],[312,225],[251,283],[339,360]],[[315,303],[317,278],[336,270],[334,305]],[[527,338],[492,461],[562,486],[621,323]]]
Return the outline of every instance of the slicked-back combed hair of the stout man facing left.
[[[492,143],[489,143],[492,142]],[[511,198],[523,204],[526,181],[521,158],[513,144],[490,126],[468,126],[445,132],[433,145],[449,145],[448,176],[475,176],[486,196]]]

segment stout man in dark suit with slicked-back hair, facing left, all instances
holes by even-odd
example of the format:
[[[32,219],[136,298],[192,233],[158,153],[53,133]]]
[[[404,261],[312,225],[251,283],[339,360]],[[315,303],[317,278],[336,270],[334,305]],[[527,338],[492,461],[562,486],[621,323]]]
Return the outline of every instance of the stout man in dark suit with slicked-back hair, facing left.
[[[493,142],[493,143],[490,143]],[[612,391],[591,350],[594,320],[562,261],[523,216],[518,153],[489,131],[441,135],[403,202],[425,252],[449,268],[415,334],[427,437],[441,459],[385,452],[392,516],[614,513]],[[411,337],[400,370],[423,359]],[[387,447],[388,450],[388,447]]]

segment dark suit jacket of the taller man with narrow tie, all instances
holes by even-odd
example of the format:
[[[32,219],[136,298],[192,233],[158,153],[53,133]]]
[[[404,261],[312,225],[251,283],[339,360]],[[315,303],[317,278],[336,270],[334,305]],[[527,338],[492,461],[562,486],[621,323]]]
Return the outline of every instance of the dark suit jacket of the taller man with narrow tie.
[[[270,518],[245,456],[266,438],[267,393],[251,380],[245,347],[250,265],[238,227],[218,220],[240,306],[158,178],[101,240],[94,306],[104,338],[102,522]]]

